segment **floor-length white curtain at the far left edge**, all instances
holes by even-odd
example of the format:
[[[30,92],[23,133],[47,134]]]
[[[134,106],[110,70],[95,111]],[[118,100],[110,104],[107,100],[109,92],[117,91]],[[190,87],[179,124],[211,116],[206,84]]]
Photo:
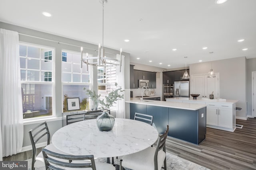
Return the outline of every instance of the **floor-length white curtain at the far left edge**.
[[[0,125],[2,156],[21,151],[23,143],[22,94],[18,32],[0,29]]]

